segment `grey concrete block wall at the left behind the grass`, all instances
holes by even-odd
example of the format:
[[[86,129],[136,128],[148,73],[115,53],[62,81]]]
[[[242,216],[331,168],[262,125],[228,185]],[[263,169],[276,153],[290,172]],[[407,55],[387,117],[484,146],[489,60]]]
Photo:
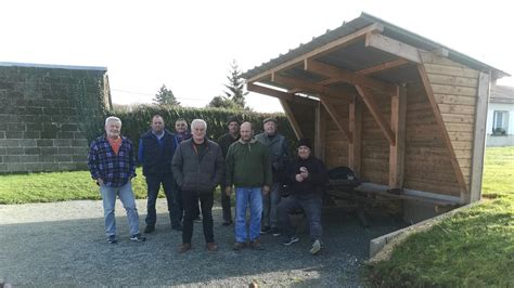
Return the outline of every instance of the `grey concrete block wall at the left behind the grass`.
[[[108,105],[105,68],[0,63],[0,173],[87,169],[88,93]]]

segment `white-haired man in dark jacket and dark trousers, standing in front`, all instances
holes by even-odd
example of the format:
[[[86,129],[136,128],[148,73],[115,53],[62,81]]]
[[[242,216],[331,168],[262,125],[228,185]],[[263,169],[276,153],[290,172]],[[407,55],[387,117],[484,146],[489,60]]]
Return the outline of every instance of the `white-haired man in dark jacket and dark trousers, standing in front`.
[[[194,204],[198,199],[206,248],[216,251],[218,246],[215,244],[213,231],[214,191],[224,174],[223,154],[218,144],[205,138],[207,123],[204,120],[194,119],[191,122],[191,132],[193,136],[180,143],[171,160],[171,170],[182,192],[184,207],[182,246],[179,252],[191,249]]]

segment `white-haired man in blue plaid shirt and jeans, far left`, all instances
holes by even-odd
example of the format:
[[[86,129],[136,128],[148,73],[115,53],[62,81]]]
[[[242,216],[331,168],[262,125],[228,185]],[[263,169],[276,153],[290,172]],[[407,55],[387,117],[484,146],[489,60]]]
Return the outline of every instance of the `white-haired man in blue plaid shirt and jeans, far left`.
[[[89,150],[89,170],[97,181],[103,199],[105,234],[110,244],[116,244],[116,196],[121,200],[130,228],[130,240],[144,241],[139,233],[139,214],[131,179],[136,176],[133,145],[121,136],[121,120],[111,116],[105,119],[105,135],[95,139]]]

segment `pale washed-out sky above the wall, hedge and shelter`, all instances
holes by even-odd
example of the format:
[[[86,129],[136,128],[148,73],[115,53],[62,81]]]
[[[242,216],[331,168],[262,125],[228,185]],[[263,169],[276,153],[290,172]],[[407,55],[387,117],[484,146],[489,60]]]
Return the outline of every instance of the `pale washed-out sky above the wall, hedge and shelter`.
[[[166,84],[203,107],[223,94],[233,60],[245,71],[361,12],[514,74],[513,10],[501,0],[5,0],[0,11],[0,62],[107,67],[118,104],[151,103]],[[261,94],[246,102],[282,110]]]

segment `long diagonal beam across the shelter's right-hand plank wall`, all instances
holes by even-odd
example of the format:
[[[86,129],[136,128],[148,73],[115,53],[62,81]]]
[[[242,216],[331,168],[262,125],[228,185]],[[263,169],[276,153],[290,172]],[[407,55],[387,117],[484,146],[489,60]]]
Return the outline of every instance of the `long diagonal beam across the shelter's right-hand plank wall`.
[[[459,166],[459,161],[455,157],[455,150],[451,145],[450,135],[446,129],[445,120],[442,119],[441,113],[439,110],[439,106],[437,105],[436,99],[434,96],[434,91],[432,90],[431,81],[428,80],[428,76],[425,70],[424,65],[417,65],[417,71],[420,73],[421,80],[423,82],[423,87],[425,88],[426,95],[428,96],[428,101],[432,106],[432,110],[434,113],[434,118],[436,119],[439,129],[441,130],[442,138],[445,140],[446,147],[450,154],[450,161],[451,166],[453,167],[453,171],[455,172],[455,178],[461,187],[461,200],[464,202],[467,194],[467,185],[464,181],[464,175],[462,174],[461,167]]]

